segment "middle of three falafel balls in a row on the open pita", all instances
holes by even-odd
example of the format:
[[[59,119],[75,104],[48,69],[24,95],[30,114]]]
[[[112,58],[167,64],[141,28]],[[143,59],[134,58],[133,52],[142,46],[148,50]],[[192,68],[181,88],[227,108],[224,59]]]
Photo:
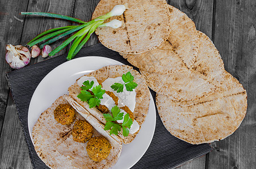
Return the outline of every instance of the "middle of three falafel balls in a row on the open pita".
[[[73,131],[73,140],[80,143],[86,143],[93,137],[93,126],[85,120],[76,121]]]

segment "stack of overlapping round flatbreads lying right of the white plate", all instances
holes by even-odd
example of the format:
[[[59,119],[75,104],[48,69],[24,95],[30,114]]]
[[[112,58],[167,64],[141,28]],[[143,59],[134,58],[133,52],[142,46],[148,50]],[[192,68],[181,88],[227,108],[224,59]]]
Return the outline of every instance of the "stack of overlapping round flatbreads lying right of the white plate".
[[[107,21],[119,19],[124,25],[98,28],[96,34],[103,45],[140,69],[157,92],[158,113],[167,130],[192,144],[222,140],[235,132],[246,114],[246,91],[224,70],[211,39],[161,0],[101,0],[93,18],[120,3],[132,7]]]

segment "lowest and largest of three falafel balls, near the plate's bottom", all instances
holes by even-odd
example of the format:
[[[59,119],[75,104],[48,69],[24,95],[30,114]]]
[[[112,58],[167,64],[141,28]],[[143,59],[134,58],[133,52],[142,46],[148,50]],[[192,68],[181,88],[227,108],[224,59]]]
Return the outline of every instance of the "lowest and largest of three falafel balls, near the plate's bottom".
[[[86,145],[86,150],[93,161],[100,162],[107,158],[111,150],[111,144],[103,136],[93,137]]]

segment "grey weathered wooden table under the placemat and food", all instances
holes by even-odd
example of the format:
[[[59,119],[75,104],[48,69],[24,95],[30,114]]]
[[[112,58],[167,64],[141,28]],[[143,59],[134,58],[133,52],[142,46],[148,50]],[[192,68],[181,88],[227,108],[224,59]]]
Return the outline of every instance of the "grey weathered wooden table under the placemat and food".
[[[32,168],[5,73],[6,45],[25,45],[37,34],[70,23],[42,17],[21,16],[21,11],[53,12],[90,20],[99,0],[1,0],[0,1],[0,168]],[[185,12],[198,30],[207,34],[218,48],[225,70],[236,77],[248,93],[248,110],[238,130],[227,139],[211,143],[211,153],[180,168],[256,167],[256,1],[175,0],[170,5]],[[51,45],[60,45],[59,41]],[[93,35],[86,46],[98,43]],[[58,55],[67,53],[68,48]],[[46,58],[48,59],[48,58]],[[31,64],[45,60],[37,57]],[[47,66],[47,65],[46,65]]]

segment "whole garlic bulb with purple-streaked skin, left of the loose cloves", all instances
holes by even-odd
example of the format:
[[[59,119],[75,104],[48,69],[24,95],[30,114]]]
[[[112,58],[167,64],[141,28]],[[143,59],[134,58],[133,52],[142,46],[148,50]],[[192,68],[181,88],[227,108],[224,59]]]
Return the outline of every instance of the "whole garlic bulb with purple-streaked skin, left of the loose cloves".
[[[23,68],[25,65],[28,65],[31,60],[31,53],[27,47],[16,45],[6,46],[6,62],[11,66],[13,69],[20,69]]]

